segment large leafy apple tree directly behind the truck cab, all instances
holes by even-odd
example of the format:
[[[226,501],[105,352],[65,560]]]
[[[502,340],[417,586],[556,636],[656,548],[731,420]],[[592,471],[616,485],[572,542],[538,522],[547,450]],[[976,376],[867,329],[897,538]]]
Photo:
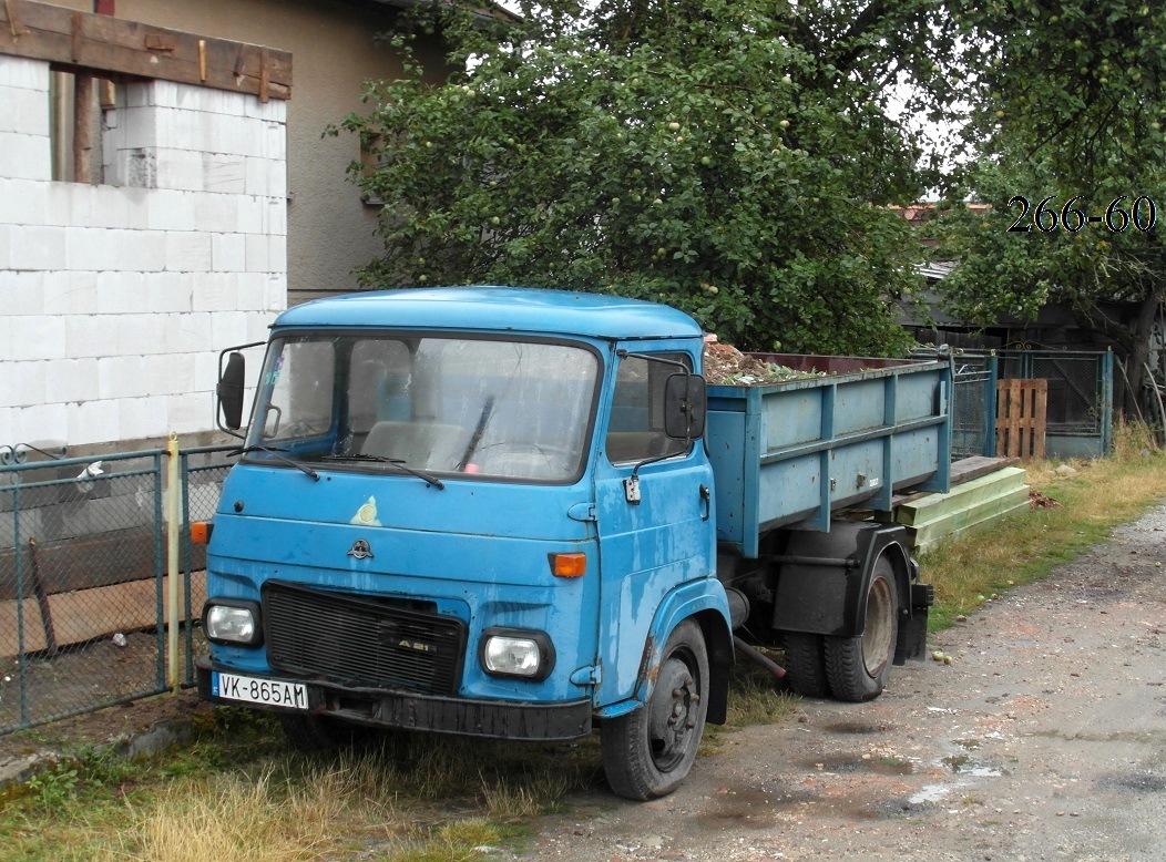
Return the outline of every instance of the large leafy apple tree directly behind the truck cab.
[[[897,352],[925,188],[888,109],[936,109],[954,50],[930,0],[552,0],[519,26],[424,7],[455,71],[374,83],[345,127],[388,202],[370,287],[500,282],[673,304],[751,349]],[[410,29],[413,28],[413,29]]]

